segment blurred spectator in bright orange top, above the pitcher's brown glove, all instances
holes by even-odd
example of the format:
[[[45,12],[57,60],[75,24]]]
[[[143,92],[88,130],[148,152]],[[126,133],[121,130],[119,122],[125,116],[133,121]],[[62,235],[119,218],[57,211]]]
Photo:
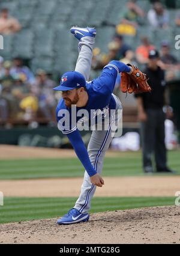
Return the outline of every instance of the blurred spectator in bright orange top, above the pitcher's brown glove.
[[[155,46],[149,42],[148,37],[141,38],[142,44],[136,49],[136,59],[140,64],[148,62],[149,51],[154,50]]]

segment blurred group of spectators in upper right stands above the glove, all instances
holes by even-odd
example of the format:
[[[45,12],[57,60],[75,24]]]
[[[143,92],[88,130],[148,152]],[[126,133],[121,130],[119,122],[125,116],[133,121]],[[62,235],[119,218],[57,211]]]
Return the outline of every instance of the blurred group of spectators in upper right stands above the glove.
[[[139,65],[142,69],[148,63],[148,53],[150,50],[155,50],[156,46],[148,37],[148,31],[140,36],[140,44],[134,50],[133,45],[126,43],[127,36],[134,38],[137,29],[140,31],[144,23],[149,24],[151,31],[157,28],[166,29],[169,25],[169,12],[163,7],[161,2],[154,2],[153,8],[145,13],[142,8],[136,4],[136,1],[127,2],[127,10],[123,14],[119,24],[116,25],[115,36],[108,44],[108,52],[103,53],[101,49],[94,49],[94,58],[92,67],[95,70],[102,69],[112,59],[127,63]],[[180,26],[180,11],[174,20],[175,26]],[[150,32],[150,31],[149,31]],[[170,41],[162,38],[160,47],[160,59],[158,65],[166,71],[166,81],[179,78],[180,63],[171,52]],[[173,46],[174,47],[174,46]]]

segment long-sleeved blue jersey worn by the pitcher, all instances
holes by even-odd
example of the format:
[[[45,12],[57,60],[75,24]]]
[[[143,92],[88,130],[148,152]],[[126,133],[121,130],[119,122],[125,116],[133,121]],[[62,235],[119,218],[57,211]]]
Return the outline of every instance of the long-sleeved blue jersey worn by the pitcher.
[[[86,106],[83,108],[76,108],[76,112],[73,112],[73,108],[65,106],[64,99],[61,99],[56,108],[58,128],[70,139],[77,156],[89,176],[92,176],[97,172],[89,160],[88,151],[83,144],[79,130],[77,129],[77,124],[81,120],[86,124],[89,124],[89,117],[92,117],[93,115],[93,117],[95,117],[94,122],[97,123],[98,118],[96,117],[98,113],[100,113],[102,117],[106,117],[106,114],[109,115],[111,110],[116,109],[116,103],[112,92],[115,87],[117,75],[120,72],[130,72],[130,67],[119,61],[111,61],[104,67],[100,77],[91,82],[86,82],[86,91],[88,93],[88,103]],[[86,110],[88,117],[77,115],[81,110]],[[67,118],[64,118],[65,113],[68,114],[68,122],[66,124],[65,121],[67,121]],[[64,121],[61,122],[63,119]]]

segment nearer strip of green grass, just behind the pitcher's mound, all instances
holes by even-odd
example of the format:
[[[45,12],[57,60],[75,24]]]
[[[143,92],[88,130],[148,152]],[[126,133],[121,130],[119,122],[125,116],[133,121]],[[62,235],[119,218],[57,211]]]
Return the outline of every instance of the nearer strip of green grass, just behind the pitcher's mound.
[[[0,223],[58,218],[74,206],[77,198],[4,198]],[[173,197],[107,197],[92,199],[90,213],[175,204]]]

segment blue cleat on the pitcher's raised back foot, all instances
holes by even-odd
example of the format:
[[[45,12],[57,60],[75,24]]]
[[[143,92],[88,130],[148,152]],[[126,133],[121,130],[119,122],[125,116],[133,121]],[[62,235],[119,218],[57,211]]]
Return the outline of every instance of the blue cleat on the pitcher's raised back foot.
[[[78,26],[73,26],[70,31],[78,40],[81,40],[82,37],[95,37],[96,35],[95,28],[79,28]]]

